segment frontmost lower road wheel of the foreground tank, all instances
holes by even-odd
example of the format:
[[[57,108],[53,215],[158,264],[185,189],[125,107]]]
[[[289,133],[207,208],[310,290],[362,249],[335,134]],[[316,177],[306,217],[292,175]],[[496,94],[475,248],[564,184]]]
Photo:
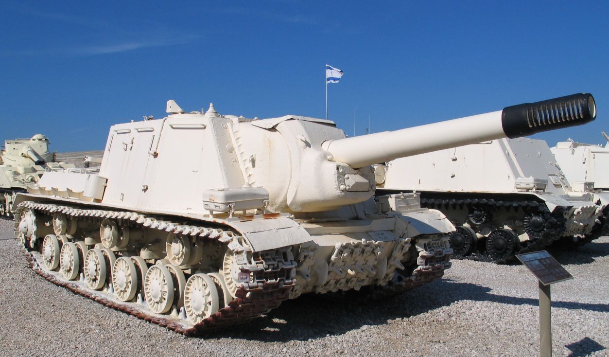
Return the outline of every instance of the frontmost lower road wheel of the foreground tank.
[[[199,323],[218,312],[220,298],[216,284],[209,275],[194,274],[186,281],[184,307],[192,323]]]

